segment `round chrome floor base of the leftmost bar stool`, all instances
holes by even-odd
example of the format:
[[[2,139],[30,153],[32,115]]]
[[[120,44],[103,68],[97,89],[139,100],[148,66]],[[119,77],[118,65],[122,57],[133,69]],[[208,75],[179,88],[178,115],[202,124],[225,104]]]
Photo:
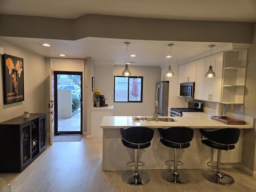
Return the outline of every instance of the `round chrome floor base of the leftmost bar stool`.
[[[122,180],[130,185],[144,185],[150,181],[150,176],[144,171],[128,170],[122,174]]]

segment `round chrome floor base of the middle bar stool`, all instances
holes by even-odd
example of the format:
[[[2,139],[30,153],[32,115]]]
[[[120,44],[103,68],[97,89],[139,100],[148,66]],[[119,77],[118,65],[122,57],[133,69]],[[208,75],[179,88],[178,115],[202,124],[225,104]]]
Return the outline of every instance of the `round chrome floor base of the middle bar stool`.
[[[183,184],[190,181],[190,177],[188,176],[188,174],[186,174],[182,170],[179,170],[179,172],[177,172],[167,169],[161,172],[161,176],[164,180],[175,184]]]

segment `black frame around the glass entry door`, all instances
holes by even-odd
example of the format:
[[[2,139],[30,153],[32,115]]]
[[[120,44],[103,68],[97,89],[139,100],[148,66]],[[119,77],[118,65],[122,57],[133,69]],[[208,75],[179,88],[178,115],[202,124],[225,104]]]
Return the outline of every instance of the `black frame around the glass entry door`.
[[[58,131],[58,92],[57,92],[57,75],[80,75],[81,77],[81,96],[80,96],[80,104],[81,104],[81,116],[80,116],[80,131]],[[83,122],[83,72],[72,72],[72,71],[54,71],[54,134],[82,134],[82,122]]]

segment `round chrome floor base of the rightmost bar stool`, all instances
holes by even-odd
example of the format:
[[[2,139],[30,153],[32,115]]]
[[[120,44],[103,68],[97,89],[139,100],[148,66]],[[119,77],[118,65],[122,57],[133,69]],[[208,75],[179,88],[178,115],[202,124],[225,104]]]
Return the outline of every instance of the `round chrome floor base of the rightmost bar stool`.
[[[216,172],[213,170],[204,171],[203,176],[208,181],[213,182],[215,184],[219,184],[219,185],[231,185],[235,182],[232,176],[223,172]]]

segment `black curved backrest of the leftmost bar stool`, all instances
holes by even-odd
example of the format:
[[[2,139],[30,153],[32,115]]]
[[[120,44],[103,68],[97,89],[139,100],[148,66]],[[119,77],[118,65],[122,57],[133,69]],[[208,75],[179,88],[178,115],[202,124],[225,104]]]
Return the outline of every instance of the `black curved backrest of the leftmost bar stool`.
[[[128,127],[120,129],[121,136],[127,142],[133,144],[145,144],[152,140],[154,130],[149,127]]]

